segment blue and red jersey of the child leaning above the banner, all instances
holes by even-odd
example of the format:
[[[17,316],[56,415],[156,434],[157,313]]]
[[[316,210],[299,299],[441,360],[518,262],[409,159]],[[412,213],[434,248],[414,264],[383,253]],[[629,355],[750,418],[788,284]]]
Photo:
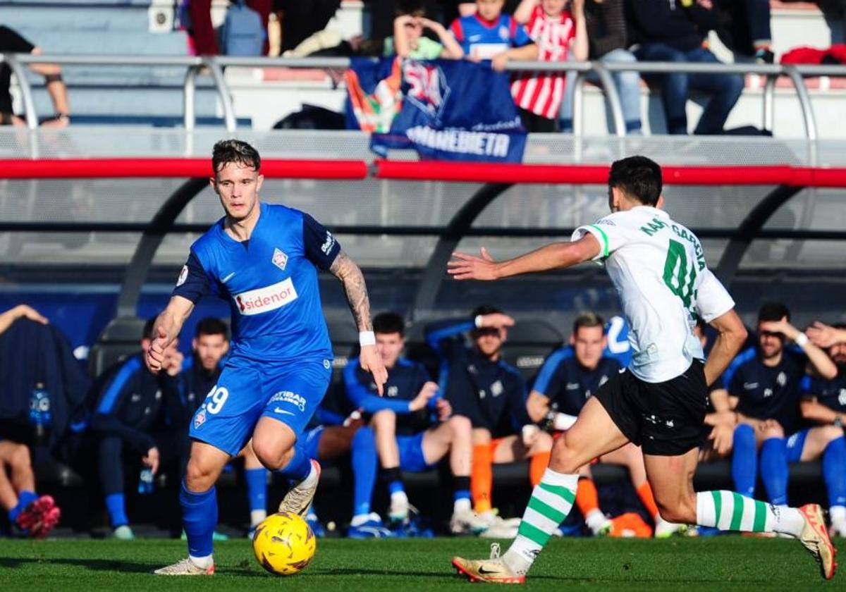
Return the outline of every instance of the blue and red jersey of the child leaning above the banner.
[[[511,47],[523,47],[533,42],[523,25],[519,25],[510,14],[500,14],[493,21],[470,14],[453,20],[449,30],[465,55],[481,59],[490,59]]]

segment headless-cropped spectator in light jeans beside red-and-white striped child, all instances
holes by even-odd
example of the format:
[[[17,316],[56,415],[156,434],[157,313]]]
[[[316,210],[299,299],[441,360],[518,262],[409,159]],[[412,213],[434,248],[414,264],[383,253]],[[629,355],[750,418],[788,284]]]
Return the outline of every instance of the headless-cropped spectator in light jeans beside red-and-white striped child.
[[[624,0],[585,0],[585,23],[587,28],[588,57],[602,63],[636,62],[629,52],[626,30]],[[640,73],[613,72],[614,85],[623,107],[623,118],[627,134],[640,134]],[[575,73],[567,76],[567,86],[561,103],[561,131],[573,131],[573,85]],[[587,79],[596,81],[596,74],[587,74]]]

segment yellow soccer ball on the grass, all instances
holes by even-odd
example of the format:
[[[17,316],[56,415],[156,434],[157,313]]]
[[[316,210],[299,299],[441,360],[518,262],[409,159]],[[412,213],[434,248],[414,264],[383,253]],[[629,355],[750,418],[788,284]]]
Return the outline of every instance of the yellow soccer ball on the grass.
[[[271,514],[255,527],[255,558],[268,572],[289,576],[305,569],[315,556],[317,540],[296,514]]]

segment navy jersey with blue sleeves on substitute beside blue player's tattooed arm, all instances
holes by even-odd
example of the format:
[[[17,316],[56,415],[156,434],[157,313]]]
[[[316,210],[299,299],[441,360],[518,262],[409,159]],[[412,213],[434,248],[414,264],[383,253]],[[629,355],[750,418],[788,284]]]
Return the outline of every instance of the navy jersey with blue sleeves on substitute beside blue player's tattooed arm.
[[[392,410],[397,414],[397,434],[403,436],[417,434],[431,425],[430,410],[422,408],[412,411],[409,408],[411,400],[417,397],[423,385],[430,380],[422,364],[399,358],[393,368],[387,370],[385,396],[379,397],[373,376],[362,370],[358,358],[350,359],[343,369],[343,383],[349,402],[367,414],[382,409]]]

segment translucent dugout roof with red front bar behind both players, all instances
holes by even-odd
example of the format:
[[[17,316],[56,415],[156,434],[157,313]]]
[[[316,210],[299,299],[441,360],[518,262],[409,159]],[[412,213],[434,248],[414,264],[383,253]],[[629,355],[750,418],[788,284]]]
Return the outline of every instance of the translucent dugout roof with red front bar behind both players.
[[[499,257],[607,213],[607,167],[664,167],[667,211],[703,241],[724,282],[750,269],[843,268],[846,141],[744,136],[532,134],[523,165],[379,160],[359,132],[147,127],[0,129],[0,266],[124,266],[119,310],[152,267],[178,268],[221,216],[211,146],[253,143],[263,199],[309,211],[365,267],[423,269],[434,303],[454,249]]]

